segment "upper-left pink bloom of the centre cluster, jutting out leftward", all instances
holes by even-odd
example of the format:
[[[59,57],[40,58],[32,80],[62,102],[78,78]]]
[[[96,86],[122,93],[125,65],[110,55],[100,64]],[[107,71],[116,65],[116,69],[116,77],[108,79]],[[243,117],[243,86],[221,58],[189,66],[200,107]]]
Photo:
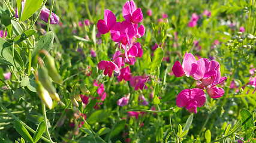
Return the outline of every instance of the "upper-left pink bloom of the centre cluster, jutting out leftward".
[[[97,28],[101,34],[109,33],[116,24],[116,15],[110,10],[104,10],[104,20],[98,20]]]

